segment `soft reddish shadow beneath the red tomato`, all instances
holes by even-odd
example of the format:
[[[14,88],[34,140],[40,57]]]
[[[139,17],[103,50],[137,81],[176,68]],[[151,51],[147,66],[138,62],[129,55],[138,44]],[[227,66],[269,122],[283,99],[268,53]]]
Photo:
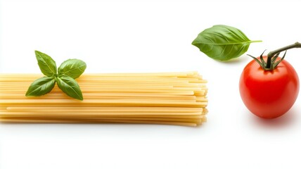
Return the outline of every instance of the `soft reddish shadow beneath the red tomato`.
[[[290,111],[281,115],[278,118],[274,119],[264,119],[259,118],[256,115],[252,115],[253,123],[260,125],[261,127],[270,127],[270,128],[280,128],[280,127],[288,127],[293,125],[294,121],[296,120],[297,110],[295,108],[291,108]]]

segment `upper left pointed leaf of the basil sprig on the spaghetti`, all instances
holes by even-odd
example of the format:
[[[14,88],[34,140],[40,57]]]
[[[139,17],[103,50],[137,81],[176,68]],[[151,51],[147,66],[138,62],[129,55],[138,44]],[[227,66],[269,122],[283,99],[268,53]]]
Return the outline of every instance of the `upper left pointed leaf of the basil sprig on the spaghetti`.
[[[34,51],[34,53],[36,54],[41,73],[48,77],[56,75],[56,62],[50,56],[41,53],[41,51]]]

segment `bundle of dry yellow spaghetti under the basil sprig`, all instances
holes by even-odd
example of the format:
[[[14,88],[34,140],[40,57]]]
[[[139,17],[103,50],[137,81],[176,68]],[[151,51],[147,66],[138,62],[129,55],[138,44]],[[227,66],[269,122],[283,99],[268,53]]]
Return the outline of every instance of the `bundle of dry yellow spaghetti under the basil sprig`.
[[[86,74],[77,78],[84,101],[57,86],[44,96],[25,96],[42,76],[0,75],[1,122],[197,126],[206,120],[207,81],[196,72]]]

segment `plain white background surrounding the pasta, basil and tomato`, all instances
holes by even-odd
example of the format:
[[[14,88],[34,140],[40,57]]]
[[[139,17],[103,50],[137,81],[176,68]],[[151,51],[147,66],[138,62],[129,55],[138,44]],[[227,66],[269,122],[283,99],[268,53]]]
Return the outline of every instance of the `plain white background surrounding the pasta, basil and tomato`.
[[[0,124],[0,168],[300,168],[301,99],[275,120],[243,105],[251,61],[214,61],[191,45],[212,25],[238,27],[258,56],[301,41],[298,1],[1,0],[0,73],[39,73],[34,50],[87,63],[86,73],[198,70],[208,82],[200,127]],[[301,74],[301,50],[286,60]]]

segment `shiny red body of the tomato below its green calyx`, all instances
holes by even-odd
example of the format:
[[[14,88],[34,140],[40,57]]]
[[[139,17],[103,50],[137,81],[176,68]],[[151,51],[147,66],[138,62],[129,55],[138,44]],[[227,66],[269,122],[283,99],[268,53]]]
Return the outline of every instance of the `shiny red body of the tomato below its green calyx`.
[[[267,56],[263,58],[267,61]],[[253,60],[241,73],[239,91],[243,103],[253,114],[260,118],[278,118],[295,103],[299,85],[298,75],[287,61],[281,61],[274,70],[264,70]]]

